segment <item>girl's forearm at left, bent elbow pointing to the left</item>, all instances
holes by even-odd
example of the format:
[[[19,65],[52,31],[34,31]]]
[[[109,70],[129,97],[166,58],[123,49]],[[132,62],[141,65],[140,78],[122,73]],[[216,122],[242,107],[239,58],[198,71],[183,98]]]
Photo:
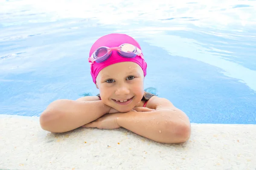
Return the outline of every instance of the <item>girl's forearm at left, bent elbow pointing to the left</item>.
[[[80,102],[60,99],[52,102],[41,114],[40,125],[50,132],[67,132],[100,118],[109,109],[101,100]]]

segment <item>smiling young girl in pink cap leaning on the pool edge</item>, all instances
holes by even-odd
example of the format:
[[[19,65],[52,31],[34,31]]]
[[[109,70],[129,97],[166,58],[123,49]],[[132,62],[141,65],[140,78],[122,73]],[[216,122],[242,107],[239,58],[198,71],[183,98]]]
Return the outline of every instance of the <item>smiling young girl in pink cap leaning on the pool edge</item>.
[[[61,133],[78,127],[124,127],[157,142],[189,139],[186,114],[169,100],[144,92],[147,63],[136,40],[126,34],[100,37],[88,61],[99,95],[52,102],[40,116],[44,130]]]

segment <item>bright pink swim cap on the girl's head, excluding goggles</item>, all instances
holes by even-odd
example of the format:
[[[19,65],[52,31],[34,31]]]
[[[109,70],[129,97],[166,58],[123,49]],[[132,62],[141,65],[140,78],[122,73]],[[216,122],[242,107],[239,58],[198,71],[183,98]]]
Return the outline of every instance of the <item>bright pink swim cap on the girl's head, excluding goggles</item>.
[[[122,45],[124,43],[135,45],[141,50],[140,44],[126,34],[108,34],[100,37],[98,40],[96,40],[96,42],[94,42],[93,46],[90,49],[89,57],[99,47],[106,46],[112,48],[118,47],[119,45]],[[140,56],[136,56],[134,58],[125,58],[120,56],[116,51],[113,51],[111,57],[109,57],[106,61],[101,63],[93,62],[93,64],[91,65],[90,69],[93,82],[96,84],[96,77],[99,74],[99,71],[111,64],[115,64],[118,62],[135,62],[142,68],[144,72],[144,77],[146,76],[147,63],[143,58],[141,58]]]

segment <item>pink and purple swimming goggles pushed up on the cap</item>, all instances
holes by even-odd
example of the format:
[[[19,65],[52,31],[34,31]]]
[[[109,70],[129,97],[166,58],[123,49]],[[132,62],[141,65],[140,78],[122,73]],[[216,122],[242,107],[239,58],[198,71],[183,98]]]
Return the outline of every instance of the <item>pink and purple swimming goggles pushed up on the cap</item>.
[[[97,48],[93,54],[88,58],[88,61],[93,63],[98,62],[104,62],[106,61],[112,54],[112,51],[117,51],[117,53],[125,58],[134,58],[136,56],[140,56],[143,58],[143,54],[142,51],[140,50],[140,48],[125,43],[120,45],[119,47],[113,47],[113,48],[109,48],[109,47],[99,47]]]

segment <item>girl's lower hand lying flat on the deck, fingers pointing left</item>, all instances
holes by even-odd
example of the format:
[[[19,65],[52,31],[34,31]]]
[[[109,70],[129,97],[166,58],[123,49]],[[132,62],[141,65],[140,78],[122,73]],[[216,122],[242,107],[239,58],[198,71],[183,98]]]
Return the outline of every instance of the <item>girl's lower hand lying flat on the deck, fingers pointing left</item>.
[[[93,122],[87,123],[82,127],[97,127],[98,129],[117,129],[120,126],[117,124],[117,117],[119,113],[105,114]]]

